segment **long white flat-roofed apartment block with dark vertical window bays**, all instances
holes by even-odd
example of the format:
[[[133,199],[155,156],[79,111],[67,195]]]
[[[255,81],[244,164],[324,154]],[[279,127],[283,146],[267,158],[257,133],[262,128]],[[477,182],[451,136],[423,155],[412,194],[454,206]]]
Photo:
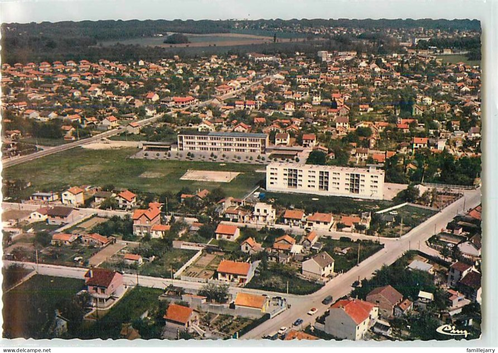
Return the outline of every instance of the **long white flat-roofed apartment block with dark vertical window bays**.
[[[266,166],[266,190],[382,200],[384,171],[276,162]]]

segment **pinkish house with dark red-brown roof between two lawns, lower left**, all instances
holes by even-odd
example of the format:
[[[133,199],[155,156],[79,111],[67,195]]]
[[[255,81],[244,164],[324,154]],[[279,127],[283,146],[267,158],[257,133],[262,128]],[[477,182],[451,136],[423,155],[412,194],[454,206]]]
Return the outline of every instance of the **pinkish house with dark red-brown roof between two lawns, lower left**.
[[[85,273],[85,285],[99,308],[108,307],[124,293],[123,274],[106,268],[90,268]]]

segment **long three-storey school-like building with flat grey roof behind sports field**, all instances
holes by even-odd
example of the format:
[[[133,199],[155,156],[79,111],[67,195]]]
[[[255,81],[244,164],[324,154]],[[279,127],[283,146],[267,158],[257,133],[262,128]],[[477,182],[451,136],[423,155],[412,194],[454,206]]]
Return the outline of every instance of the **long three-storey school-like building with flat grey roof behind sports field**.
[[[178,134],[179,151],[265,153],[268,135],[246,132],[189,132]]]

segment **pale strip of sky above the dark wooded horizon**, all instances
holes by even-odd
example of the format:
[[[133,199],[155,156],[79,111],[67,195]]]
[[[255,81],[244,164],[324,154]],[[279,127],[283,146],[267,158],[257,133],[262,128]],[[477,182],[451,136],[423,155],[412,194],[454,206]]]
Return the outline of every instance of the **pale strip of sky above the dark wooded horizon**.
[[[477,18],[495,0],[0,0],[1,22],[99,19]]]

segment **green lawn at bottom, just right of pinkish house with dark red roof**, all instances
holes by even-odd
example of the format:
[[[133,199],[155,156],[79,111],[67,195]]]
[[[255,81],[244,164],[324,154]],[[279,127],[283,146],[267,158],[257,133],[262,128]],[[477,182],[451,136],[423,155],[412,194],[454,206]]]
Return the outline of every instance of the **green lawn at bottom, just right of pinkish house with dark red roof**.
[[[147,310],[149,315],[153,315],[159,308],[157,297],[162,293],[162,289],[157,288],[135,287],[129,290],[106,316],[89,327],[82,326],[75,338],[103,340],[121,338],[121,325],[139,319]]]

